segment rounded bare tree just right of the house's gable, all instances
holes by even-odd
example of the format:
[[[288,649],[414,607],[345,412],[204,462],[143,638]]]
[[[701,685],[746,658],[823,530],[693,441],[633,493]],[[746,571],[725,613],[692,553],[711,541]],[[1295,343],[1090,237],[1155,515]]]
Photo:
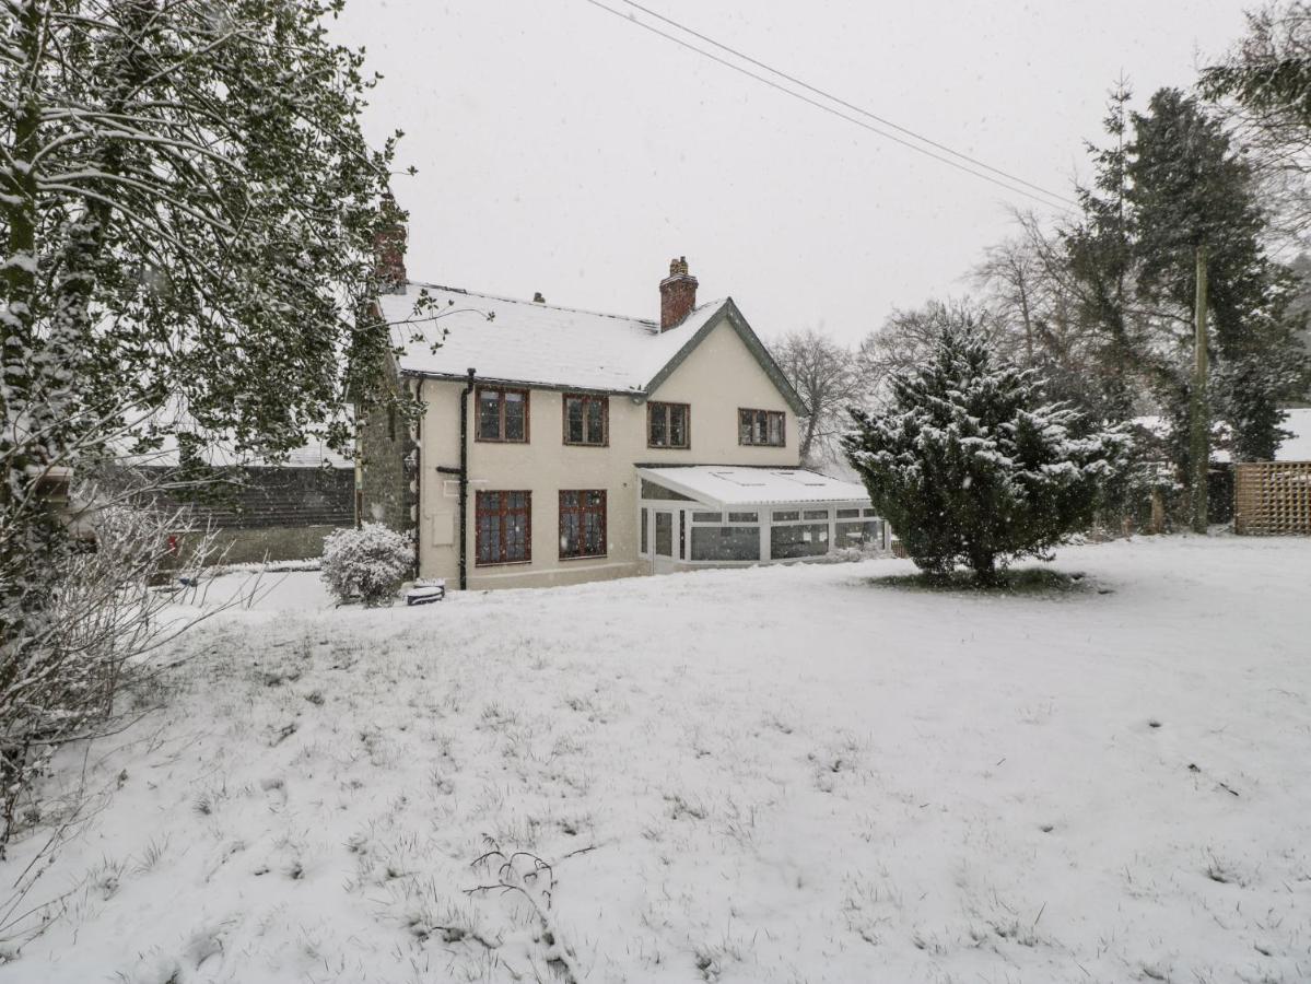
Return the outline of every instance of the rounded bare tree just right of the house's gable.
[[[822,329],[805,329],[784,335],[773,346],[773,358],[806,405],[798,438],[801,461],[836,461],[836,438],[848,427],[847,410],[867,394],[851,351]]]

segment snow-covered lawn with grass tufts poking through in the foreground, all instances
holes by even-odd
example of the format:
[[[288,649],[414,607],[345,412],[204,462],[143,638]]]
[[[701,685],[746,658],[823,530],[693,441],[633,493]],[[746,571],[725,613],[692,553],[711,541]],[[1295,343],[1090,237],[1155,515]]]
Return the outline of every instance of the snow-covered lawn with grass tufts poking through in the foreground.
[[[0,979],[1311,979],[1311,542],[1055,566],[379,612],[287,575],[92,751],[113,798]]]

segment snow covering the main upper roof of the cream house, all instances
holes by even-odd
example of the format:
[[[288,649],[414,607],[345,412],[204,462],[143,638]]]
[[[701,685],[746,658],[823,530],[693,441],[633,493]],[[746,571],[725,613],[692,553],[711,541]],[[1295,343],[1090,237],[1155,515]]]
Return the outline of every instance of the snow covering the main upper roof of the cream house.
[[[422,290],[437,309],[416,316]],[[644,393],[729,300],[701,304],[667,331],[641,318],[413,282],[380,303],[405,372],[463,379],[475,368],[503,383]]]

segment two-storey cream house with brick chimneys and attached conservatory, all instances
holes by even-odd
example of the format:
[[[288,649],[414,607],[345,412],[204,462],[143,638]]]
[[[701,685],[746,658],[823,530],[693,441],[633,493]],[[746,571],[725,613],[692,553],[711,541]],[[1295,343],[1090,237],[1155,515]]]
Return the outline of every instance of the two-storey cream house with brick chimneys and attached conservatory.
[[[413,283],[383,254],[382,385],[423,410],[413,430],[364,415],[359,510],[414,532],[421,577],[539,587],[884,545],[863,486],[800,468],[801,400],[732,297],[697,304],[686,259],[654,321]]]

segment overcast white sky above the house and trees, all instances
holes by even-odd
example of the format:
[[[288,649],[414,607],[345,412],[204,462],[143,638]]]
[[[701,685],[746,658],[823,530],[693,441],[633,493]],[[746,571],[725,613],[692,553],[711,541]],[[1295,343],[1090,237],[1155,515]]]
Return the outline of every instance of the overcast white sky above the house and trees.
[[[650,21],[621,0],[604,0]],[[1243,31],[1238,0],[642,0],[821,89],[1068,194],[1124,72],[1137,104]],[[385,79],[371,136],[410,276],[658,317],[686,254],[700,299],[766,337],[853,342],[969,288],[1030,202],[826,115],[586,0],[350,0],[336,28]],[[704,45],[703,45],[704,47]]]

